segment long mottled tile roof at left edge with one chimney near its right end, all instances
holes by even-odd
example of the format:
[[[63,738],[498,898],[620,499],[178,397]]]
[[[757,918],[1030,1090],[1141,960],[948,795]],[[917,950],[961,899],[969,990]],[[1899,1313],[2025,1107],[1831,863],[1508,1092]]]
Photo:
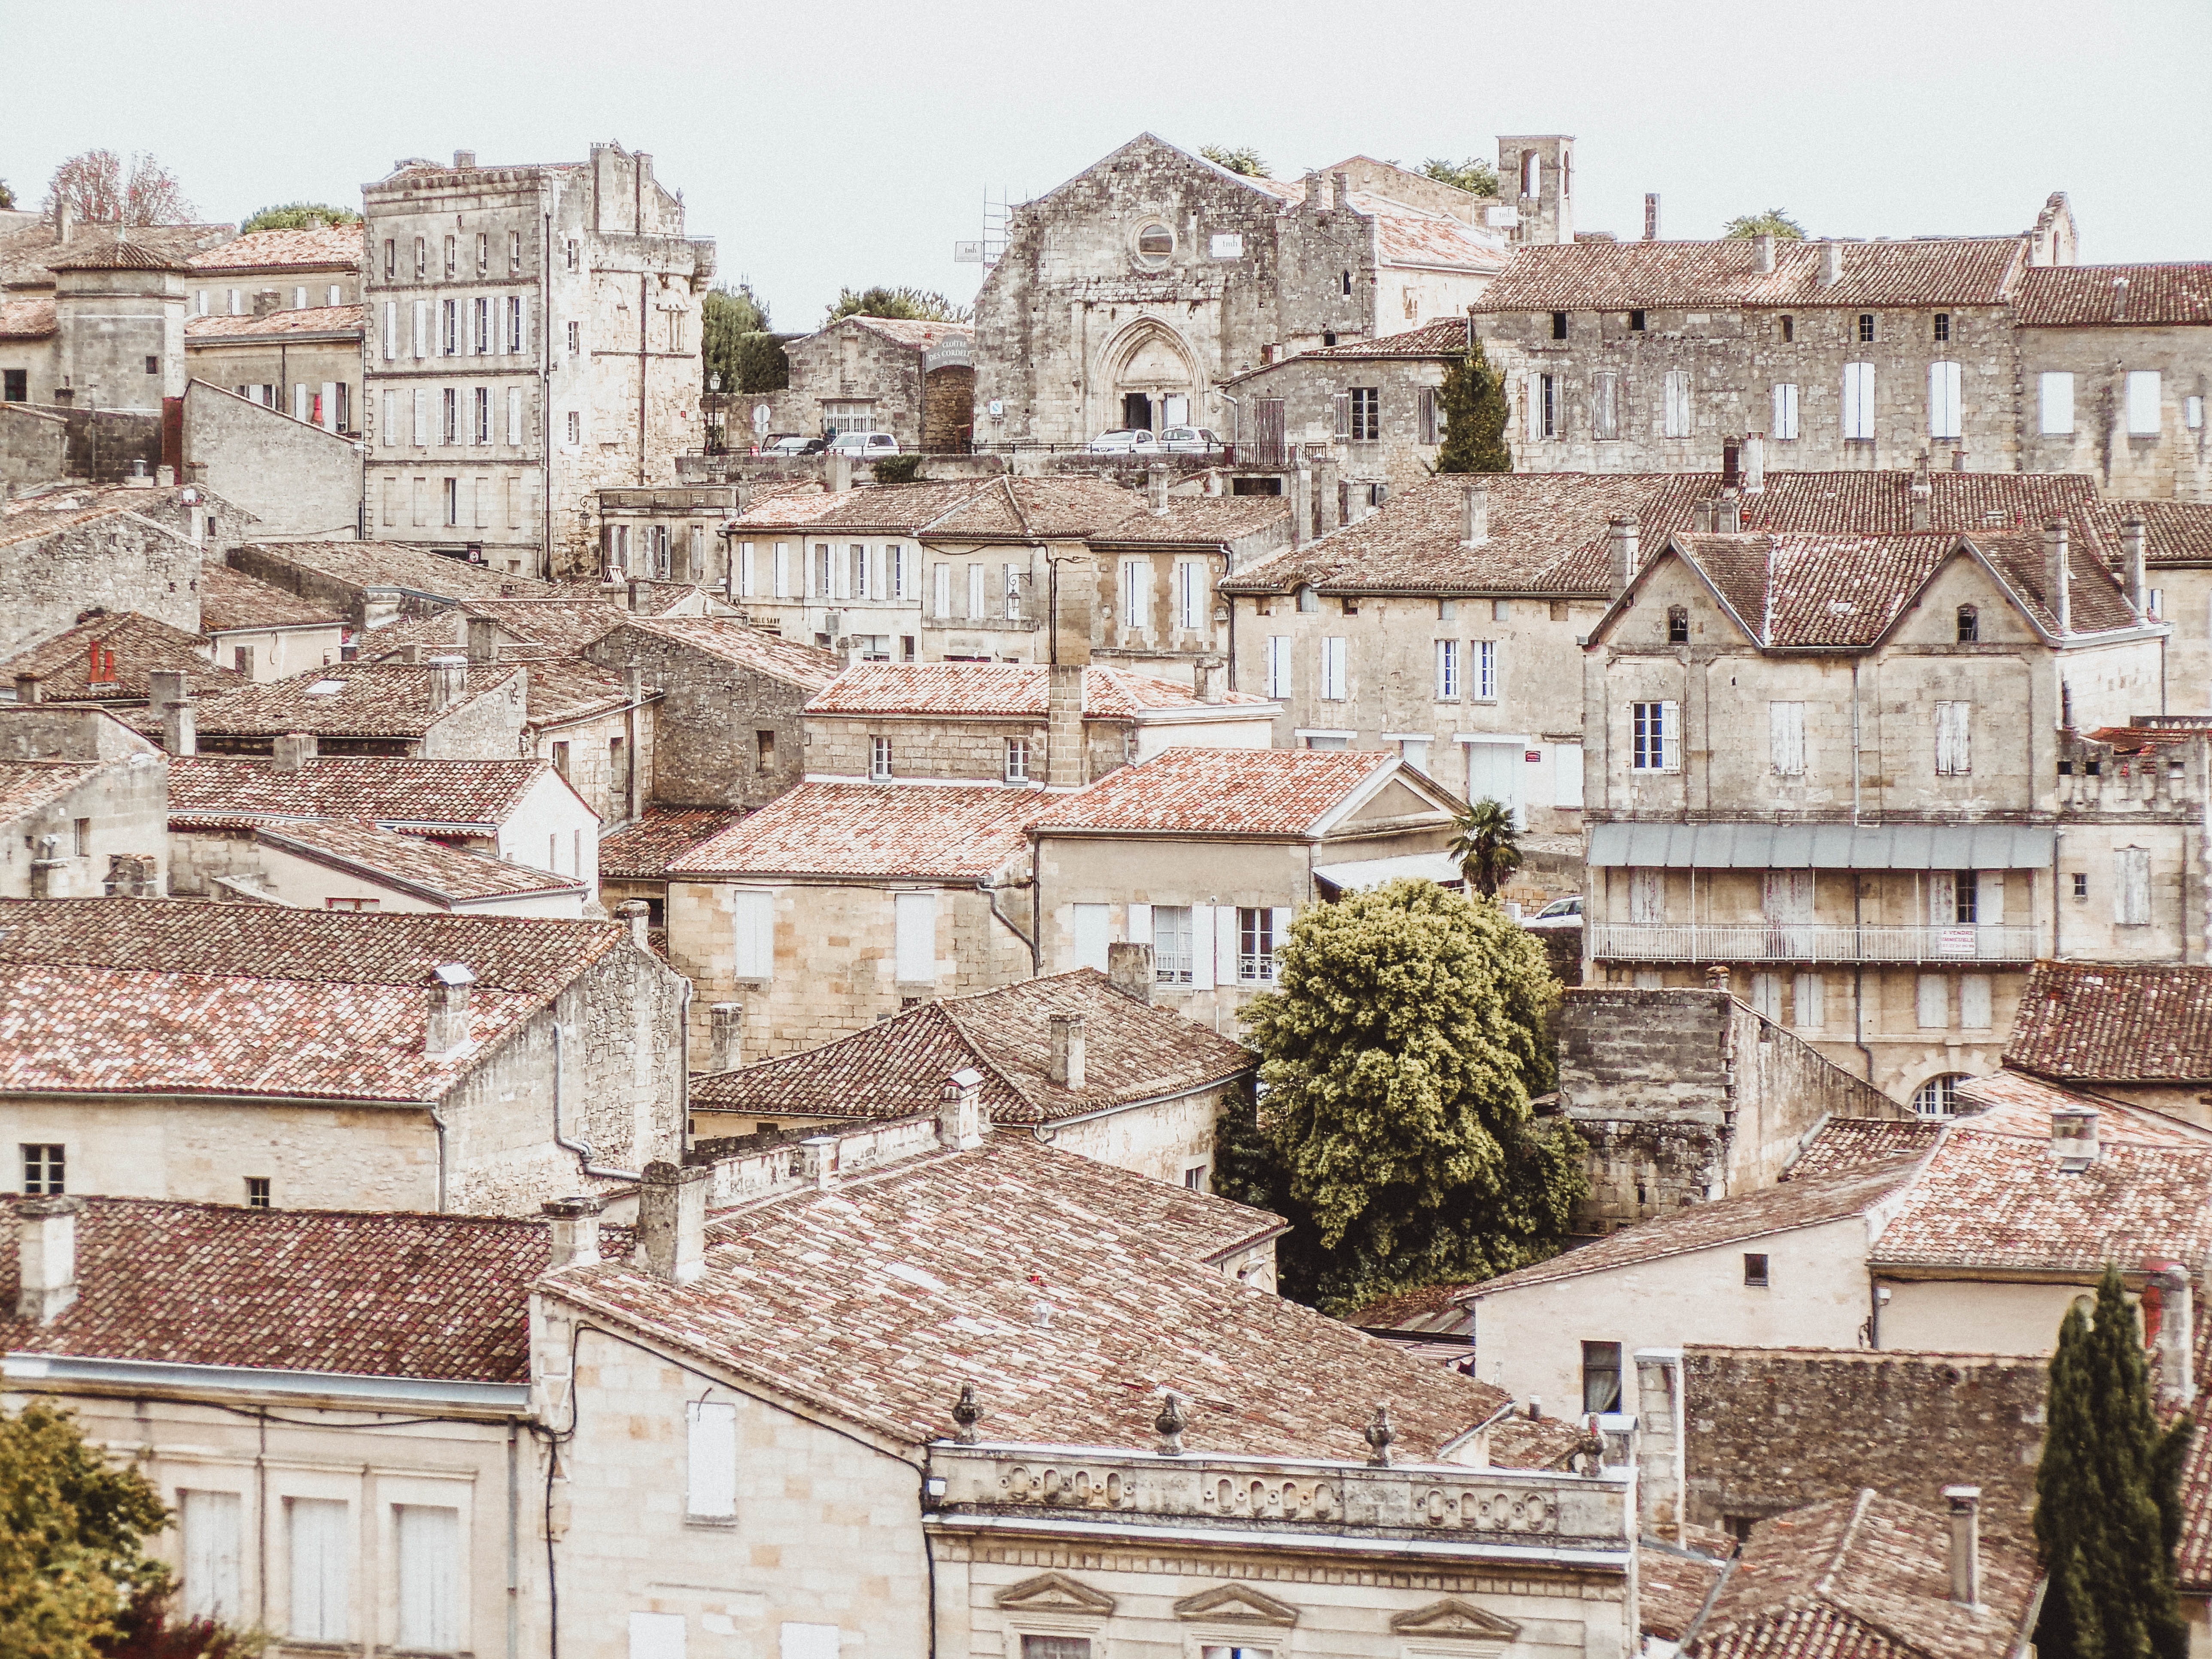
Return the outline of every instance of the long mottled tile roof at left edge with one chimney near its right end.
[[[628,931],[511,916],[0,900],[0,1093],[438,1099]],[[476,973],[422,1053],[422,980]]]

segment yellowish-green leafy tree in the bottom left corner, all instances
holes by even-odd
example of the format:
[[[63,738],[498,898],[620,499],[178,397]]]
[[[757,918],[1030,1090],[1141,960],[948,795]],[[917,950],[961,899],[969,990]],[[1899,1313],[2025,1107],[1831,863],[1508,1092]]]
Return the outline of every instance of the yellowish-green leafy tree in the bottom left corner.
[[[0,1413],[0,1659],[97,1659],[126,1610],[168,1590],[142,1542],[168,1522],[66,1411]]]

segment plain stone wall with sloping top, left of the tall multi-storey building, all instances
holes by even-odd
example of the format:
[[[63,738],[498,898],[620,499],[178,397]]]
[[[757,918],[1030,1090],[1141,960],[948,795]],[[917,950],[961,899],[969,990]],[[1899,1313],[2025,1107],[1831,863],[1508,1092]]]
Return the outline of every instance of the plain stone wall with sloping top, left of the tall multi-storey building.
[[[361,449],[307,420],[192,380],[184,389],[184,462],[259,520],[254,540],[361,533]]]

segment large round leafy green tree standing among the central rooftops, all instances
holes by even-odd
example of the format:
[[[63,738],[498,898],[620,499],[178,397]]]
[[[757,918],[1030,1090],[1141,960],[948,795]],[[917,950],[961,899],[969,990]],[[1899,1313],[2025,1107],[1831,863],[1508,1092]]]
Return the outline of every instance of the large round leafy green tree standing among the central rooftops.
[[[1290,931],[1281,989],[1245,1009],[1263,1106],[1223,1110],[1219,1186],[1292,1221],[1290,1296],[1489,1279],[1553,1254],[1586,1188],[1582,1141],[1537,1119],[1559,982],[1491,900],[1396,880]]]

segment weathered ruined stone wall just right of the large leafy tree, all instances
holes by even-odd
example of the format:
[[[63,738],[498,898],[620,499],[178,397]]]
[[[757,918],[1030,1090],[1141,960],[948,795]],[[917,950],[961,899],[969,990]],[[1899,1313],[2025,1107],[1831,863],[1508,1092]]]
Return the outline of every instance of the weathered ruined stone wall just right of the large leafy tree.
[[[1909,1117],[1725,991],[1568,991],[1559,1095],[1590,1146],[1577,1232],[1772,1186],[1827,1117]]]

